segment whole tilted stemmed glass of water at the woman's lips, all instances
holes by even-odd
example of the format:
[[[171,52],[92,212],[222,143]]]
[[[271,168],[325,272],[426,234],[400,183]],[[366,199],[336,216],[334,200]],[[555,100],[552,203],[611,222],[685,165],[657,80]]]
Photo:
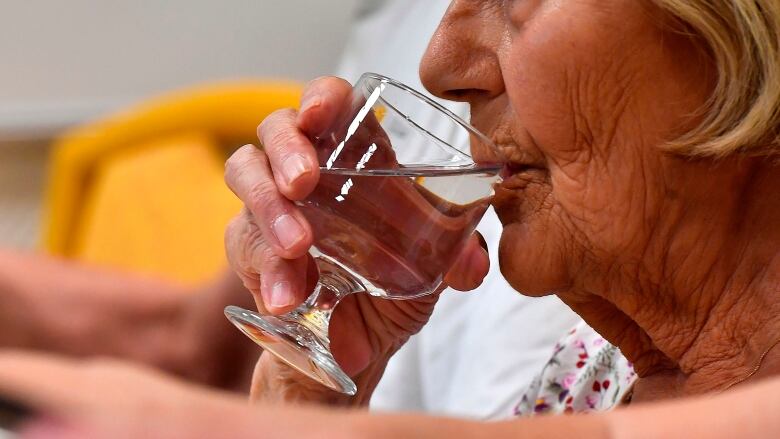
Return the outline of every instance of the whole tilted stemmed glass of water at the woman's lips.
[[[320,180],[296,202],[314,232],[319,283],[297,309],[225,315],[268,352],[331,389],[355,383],[330,353],[328,322],[341,299],[413,299],[437,292],[500,180],[498,159],[475,162],[490,139],[432,99],[366,73],[312,139]]]

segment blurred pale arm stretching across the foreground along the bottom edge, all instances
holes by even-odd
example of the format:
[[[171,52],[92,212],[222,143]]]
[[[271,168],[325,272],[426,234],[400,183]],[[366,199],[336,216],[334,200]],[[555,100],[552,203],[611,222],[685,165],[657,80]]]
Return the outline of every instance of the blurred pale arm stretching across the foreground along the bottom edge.
[[[0,398],[32,409],[26,430],[22,426],[28,437],[51,438],[717,439],[764,438],[780,431],[778,378],[717,396],[609,413],[483,423],[305,406],[253,407],[136,365],[6,352],[0,353]]]

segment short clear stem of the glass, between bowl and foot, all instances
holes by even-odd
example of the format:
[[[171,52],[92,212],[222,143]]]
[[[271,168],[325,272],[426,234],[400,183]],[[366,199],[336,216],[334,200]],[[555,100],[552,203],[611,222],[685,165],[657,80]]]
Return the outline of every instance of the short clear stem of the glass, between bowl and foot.
[[[365,291],[365,288],[351,274],[327,257],[317,255],[314,261],[319,270],[319,282],[309,298],[291,311],[286,316],[286,320],[300,323],[319,338],[326,349],[330,349],[328,327],[333,309],[344,297]]]

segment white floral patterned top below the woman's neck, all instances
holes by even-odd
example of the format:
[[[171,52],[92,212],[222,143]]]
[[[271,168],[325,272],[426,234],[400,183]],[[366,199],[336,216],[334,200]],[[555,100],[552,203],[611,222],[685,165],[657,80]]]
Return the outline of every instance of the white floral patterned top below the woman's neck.
[[[514,409],[515,416],[609,410],[630,394],[637,376],[620,350],[585,322],[560,340]]]

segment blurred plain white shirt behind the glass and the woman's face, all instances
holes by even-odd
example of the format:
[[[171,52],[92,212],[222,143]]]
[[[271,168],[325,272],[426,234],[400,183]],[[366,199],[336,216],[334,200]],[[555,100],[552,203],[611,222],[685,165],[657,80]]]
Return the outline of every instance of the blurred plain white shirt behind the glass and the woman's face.
[[[339,75],[354,82],[373,71],[423,91],[420,59],[448,4],[367,1]],[[446,105],[468,114],[464,104]],[[391,359],[371,400],[372,410],[510,417],[556,341],[579,321],[558,298],[527,298],[504,280],[498,269],[501,224],[492,209],[478,230],[489,244],[487,278],[475,291],[442,294],[430,322]]]

